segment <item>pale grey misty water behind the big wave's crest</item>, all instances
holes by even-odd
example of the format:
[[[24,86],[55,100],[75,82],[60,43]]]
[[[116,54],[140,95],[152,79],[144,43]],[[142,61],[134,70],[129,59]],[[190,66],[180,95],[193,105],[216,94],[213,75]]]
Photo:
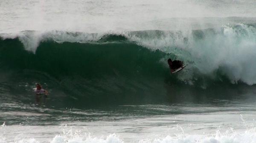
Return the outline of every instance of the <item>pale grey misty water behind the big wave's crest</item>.
[[[24,0],[16,3],[2,0],[1,2],[0,33],[25,30],[88,33],[148,29],[181,30],[184,26],[194,27],[194,23],[197,23],[196,27],[201,29],[200,26],[207,23],[216,25],[222,20],[206,22],[197,17],[255,17],[256,13],[255,0]],[[197,20],[192,20],[192,17]],[[175,19],[170,20],[172,18]],[[184,21],[182,18],[189,20]]]

